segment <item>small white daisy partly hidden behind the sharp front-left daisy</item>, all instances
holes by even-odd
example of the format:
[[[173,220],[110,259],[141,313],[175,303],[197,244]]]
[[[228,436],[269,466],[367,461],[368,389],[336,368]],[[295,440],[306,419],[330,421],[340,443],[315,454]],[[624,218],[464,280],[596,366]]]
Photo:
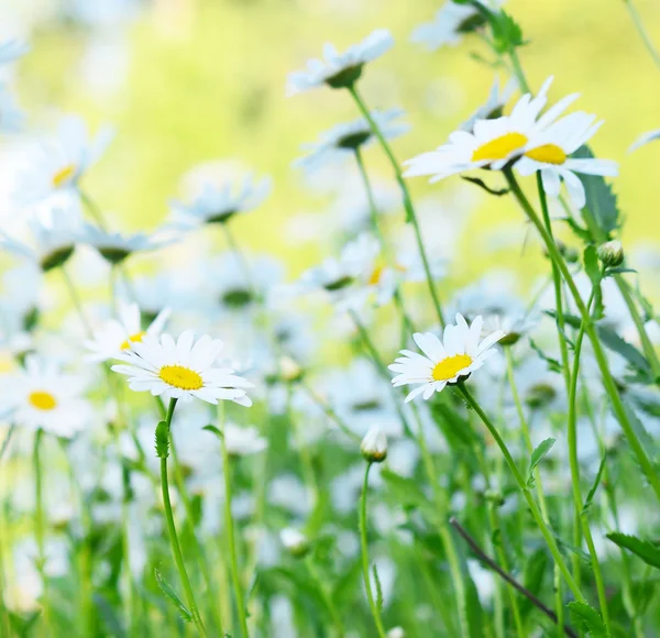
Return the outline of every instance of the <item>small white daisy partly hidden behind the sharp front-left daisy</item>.
[[[142,315],[138,304],[121,302],[119,305],[119,317],[108,319],[99,330],[95,331],[94,338],[85,345],[90,351],[88,361],[108,361],[117,359],[124,350],[133,343],[139,343],[144,337],[151,334],[156,337],[163,331],[165,322],[169,317],[169,309],[161,310],[146,330],[142,329]]]

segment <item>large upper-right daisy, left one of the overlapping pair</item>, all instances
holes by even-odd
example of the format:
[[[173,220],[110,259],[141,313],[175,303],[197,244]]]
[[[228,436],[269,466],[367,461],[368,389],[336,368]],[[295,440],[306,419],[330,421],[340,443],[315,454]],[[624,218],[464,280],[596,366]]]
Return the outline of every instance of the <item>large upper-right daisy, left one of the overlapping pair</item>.
[[[509,116],[476,120],[472,132],[454,131],[447,144],[408,160],[405,177],[432,175],[430,182],[435,183],[474,168],[501,170],[513,158],[522,155],[530,140],[534,141],[578,99],[578,94],[566,96],[539,118],[548,101],[551,82],[552,77],[534,98],[530,94],[524,95]]]

